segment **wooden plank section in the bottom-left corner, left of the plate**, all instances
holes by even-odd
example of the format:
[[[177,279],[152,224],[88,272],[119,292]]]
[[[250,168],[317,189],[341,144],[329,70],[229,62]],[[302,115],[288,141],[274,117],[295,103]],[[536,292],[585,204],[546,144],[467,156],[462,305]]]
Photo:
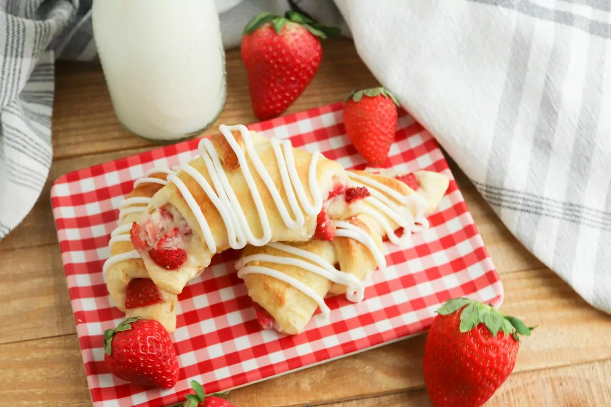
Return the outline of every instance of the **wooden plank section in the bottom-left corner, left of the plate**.
[[[92,405],[76,335],[2,345],[0,407]]]

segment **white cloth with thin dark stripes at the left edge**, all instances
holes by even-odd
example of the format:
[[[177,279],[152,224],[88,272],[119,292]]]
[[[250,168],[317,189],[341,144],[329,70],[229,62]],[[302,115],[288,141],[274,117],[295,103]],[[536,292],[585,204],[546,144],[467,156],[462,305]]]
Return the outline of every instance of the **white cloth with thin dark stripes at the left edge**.
[[[53,51],[78,0],[0,0],[0,238],[27,215],[51,167]]]

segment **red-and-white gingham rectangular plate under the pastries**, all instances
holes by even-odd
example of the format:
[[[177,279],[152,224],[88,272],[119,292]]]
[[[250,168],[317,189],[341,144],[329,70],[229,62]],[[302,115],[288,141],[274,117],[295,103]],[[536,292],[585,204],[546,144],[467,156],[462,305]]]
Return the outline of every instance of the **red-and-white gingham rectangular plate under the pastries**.
[[[346,168],[364,168],[345,135],[343,104],[280,117],[249,128],[267,137],[290,138],[296,147],[321,151]],[[246,287],[236,276],[233,251],[218,254],[201,276],[178,296],[173,340],[181,372],[170,391],[147,390],[114,378],[104,366],[103,331],[122,320],[109,303],[102,264],[117,226],[119,202],[133,181],[153,166],[173,166],[197,154],[198,140],[96,165],[57,179],[51,191],[53,214],[87,382],[99,406],[166,406],[183,400],[189,381],[206,392],[243,386],[329,359],[412,336],[430,326],[434,311],[453,297],[469,296],[497,306],[499,276],[464,204],[437,142],[402,113],[397,142],[387,164],[405,170],[433,170],[451,179],[430,216],[431,228],[414,234],[413,247],[386,244],[386,270],[376,271],[365,300],[329,298],[331,317],[317,314],[298,336],[260,330]]]

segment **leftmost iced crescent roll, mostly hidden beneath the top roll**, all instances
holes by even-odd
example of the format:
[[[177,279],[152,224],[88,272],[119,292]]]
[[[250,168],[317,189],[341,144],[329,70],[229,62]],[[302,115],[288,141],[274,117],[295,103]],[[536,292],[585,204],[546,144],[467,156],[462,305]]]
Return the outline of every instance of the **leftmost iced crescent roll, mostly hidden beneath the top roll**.
[[[119,227],[111,234],[111,257],[104,263],[106,286],[112,300],[127,317],[154,319],[170,333],[176,329],[174,294],[159,289],[149,278],[140,254],[130,240],[130,228],[140,217],[151,197],[163,185],[172,171],[153,168],[145,178],[138,179],[134,190],[120,203]]]

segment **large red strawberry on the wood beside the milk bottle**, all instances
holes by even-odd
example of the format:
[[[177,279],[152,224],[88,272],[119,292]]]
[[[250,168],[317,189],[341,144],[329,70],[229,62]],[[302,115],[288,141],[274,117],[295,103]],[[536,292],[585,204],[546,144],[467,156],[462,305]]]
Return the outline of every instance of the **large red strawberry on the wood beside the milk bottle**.
[[[284,17],[260,13],[246,24],[241,55],[257,118],[276,117],[287,110],[320,66],[319,38],[339,32],[293,11]]]

